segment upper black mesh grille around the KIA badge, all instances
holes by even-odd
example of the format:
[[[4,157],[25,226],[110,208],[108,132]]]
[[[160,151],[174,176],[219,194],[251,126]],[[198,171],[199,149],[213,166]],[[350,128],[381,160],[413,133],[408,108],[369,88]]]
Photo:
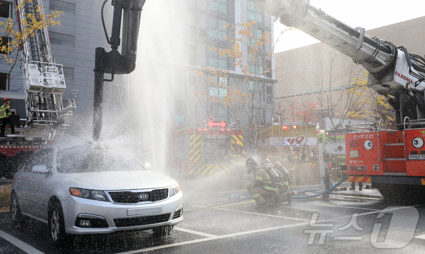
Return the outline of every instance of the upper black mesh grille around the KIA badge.
[[[121,204],[136,204],[144,201],[155,202],[168,198],[168,188],[146,192],[110,191],[108,193],[114,203]],[[145,199],[139,198],[142,194],[147,195],[148,197]]]

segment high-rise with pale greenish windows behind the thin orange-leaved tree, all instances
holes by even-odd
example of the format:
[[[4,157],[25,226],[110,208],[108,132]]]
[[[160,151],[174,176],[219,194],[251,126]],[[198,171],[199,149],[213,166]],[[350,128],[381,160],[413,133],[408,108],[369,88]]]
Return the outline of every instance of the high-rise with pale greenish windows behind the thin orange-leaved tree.
[[[238,34],[240,24],[254,20],[255,24],[251,28],[253,37],[258,38],[264,33],[273,36],[273,19],[261,8],[250,0],[186,0],[187,17],[185,17],[185,27],[187,37],[185,38],[187,69],[190,70],[184,75],[177,77],[182,87],[185,87],[184,95],[176,96],[174,100],[175,112],[174,123],[181,126],[187,126],[194,121],[208,120],[208,111],[215,120],[235,122],[235,119],[228,113],[228,108],[221,103],[212,102],[205,96],[197,95],[197,92],[204,91],[212,97],[225,96],[227,91],[217,89],[214,84],[206,82],[195,74],[196,71],[206,68],[218,68],[226,70],[228,77],[226,79],[215,78],[216,82],[225,82],[229,90],[240,89],[241,92],[248,94],[249,100],[253,99],[255,114],[260,124],[269,123],[272,115],[275,114],[275,75],[274,57],[266,57],[267,52],[271,52],[273,43],[263,47],[263,56],[258,56],[258,65],[262,70],[270,70],[266,75],[258,77],[259,90],[261,94],[249,96],[252,81],[246,81],[246,75],[239,66],[235,66],[235,59],[226,56],[220,56],[216,50],[232,49],[232,38],[241,37]],[[228,39],[225,39],[228,36]],[[241,51],[244,54],[244,64],[247,63],[247,47],[241,44]],[[213,80],[213,79],[211,79]],[[231,91],[229,91],[231,92]],[[249,103],[248,103],[249,104]],[[252,104],[251,104],[252,105]],[[244,118],[244,112],[240,110],[241,118]],[[245,116],[244,124],[248,122]]]

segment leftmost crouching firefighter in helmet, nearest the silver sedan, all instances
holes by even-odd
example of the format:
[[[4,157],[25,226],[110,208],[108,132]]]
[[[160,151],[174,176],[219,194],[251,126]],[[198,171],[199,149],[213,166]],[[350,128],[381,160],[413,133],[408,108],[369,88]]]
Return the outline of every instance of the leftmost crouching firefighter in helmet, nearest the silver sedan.
[[[245,162],[247,173],[254,173],[255,179],[252,184],[247,186],[249,194],[257,203],[258,209],[265,209],[276,205],[279,200],[279,189],[273,187],[273,182],[266,171],[257,163],[254,158],[248,158]],[[268,165],[268,164],[265,164]]]

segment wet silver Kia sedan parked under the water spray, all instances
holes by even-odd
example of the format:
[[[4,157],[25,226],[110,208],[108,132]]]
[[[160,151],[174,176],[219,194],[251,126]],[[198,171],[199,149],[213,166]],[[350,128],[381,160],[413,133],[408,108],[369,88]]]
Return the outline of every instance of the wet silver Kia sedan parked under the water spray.
[[[119,149],[100,145],[35,152],[13,178],[11,217],[48,223],[52,243],[72,234],[152,229],[167,235],[183,221],[177,182],[147,170]]]

